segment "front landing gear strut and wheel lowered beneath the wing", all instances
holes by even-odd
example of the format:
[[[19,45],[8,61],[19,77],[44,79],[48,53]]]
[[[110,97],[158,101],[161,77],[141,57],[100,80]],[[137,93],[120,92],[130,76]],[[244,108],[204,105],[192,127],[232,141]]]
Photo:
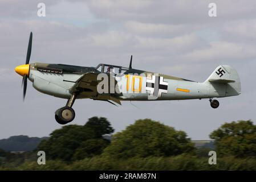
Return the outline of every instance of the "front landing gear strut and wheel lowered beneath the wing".
[[[60,125],[66,125],[71,122],[75,118],[75,111],[72,109],[72,105],[74,104],[76,99],[76,94],[73,94],[71,98],[67,101],[66,106],[61,107],[60,109],[55,111],[55,119]]]

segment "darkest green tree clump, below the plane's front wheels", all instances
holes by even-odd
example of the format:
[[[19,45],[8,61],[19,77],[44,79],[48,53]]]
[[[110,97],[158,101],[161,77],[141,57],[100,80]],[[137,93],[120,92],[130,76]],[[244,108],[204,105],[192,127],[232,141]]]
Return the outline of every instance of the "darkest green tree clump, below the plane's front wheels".
[[[99,127],[100,134],[109,134],[113,129],[105,118],[100,118],[100,121],[104,122],[99,122],[99,126],[96,126],[96,122],[92,124],[91,121],[95,121],[95,118],[97,117],[90,118],[88,121],[89,124],[87,122],[84,126],[68,125],[53,131],[50,134],[50,138],[43,140],[36,151],[42,150],[46,152],[46,156],[49,159],[60,159],[64,161],[72,161],[101,154],[103,148],[109,142],[103,139],[102,135],[99,135],[96,129]]]

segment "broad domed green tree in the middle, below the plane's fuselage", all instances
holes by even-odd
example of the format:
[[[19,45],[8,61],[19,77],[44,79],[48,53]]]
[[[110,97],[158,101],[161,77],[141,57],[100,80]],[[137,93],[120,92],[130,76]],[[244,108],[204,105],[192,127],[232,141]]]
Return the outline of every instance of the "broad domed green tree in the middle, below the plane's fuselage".
[[[192,152],[194,144],[184,131],[176,131],[151,119],[137,120],[112,137],[103,155],[113,158],[171,156]]]

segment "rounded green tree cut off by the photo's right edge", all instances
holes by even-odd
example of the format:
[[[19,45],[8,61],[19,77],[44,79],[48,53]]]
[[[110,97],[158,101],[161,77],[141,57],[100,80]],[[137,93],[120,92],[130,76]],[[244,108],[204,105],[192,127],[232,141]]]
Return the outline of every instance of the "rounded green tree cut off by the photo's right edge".
[[[224,123],[210,138],[216,140],[218,154],[256,156],[256,125],[250,120]]]

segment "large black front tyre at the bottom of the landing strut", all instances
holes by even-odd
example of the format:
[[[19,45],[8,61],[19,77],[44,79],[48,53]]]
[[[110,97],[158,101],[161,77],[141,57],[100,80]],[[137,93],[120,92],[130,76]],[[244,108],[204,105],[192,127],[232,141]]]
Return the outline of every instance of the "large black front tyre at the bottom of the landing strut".
[[[75,118],[75,111],[71,107],[65,106],[55,112],[55,119],[60,125],[65,125]]]

